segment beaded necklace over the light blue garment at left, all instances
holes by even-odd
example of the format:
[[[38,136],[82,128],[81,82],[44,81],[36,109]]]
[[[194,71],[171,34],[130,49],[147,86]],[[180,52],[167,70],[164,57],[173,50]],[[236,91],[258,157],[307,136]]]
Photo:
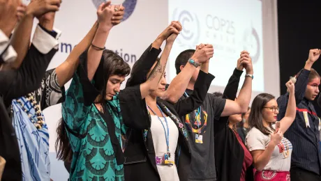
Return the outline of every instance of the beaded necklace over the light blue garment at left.
[[[23,102],[18,99],[17,102],[20,104],[20,106],[22,107],[22,110],[27,113],[29,120],[31,120],[31,123],[33,123],[33,125],[37,128],[37,129],[41,129],[44,125],[45,125],[45,121],[43,120],[43,115],[41,114],[41,110],[40,110],[40,105],[36,102],[35,100],[35,94],[34,93],[29,93],[27,96],[25,96],[27,102],[30,102],[31,106],[33,107],[34,111],[35,111],[35,116],[37,118],[37,120],[33,120],[33,115],[31,113],[31,109],[29,109],[29,111],[24,107]]]

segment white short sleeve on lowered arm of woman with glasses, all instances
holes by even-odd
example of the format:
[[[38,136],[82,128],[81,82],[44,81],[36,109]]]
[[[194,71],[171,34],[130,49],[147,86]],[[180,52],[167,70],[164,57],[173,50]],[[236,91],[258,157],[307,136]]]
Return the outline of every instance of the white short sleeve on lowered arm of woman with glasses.
[[[246,135],[246,147],[250,152],[253,150],[265,150],[268,138],[268,136],[264,135],[258,129],[252,128]]]

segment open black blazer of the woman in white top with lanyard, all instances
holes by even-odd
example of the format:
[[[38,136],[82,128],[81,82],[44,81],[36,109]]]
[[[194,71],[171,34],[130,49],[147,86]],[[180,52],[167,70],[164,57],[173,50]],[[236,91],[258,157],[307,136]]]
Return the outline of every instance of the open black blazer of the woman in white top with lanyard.
[[[128,79],[126,86],[134,86],[135,84],[142,84],[146,81],[147,72],[156,61],[158,54],[149,51],[151,47],[144,52],[143,58],[140,58],[138,64],[139,68],[133,68],[132,79]],[[145,58],[144,58],[145,57]],[[146,58],[149,57],[149,58]],[[144,63],[148,62],[148,63]],[[144,71],[146,74],[141,76],[135,75],[136,70],[139,72]],[[200,71],[197,81],[195,82],[195,89],[193,94],[185,100],[181,100],[176,104],[171,104],[165,100],[158,99],[157,104],[160,109],[170,116],[179,129],[179,139],[177,143],[177,149],[175,152],[175,164],[180,180],[188,179],[188,171],[191,163],[191,151],[188,145],[188,135],[186,132],[185,124],[181,122],[181,116],[190,113],[200,107],[204,101],[211,81],[214,76],[206,74]],[[144,102],[144,100],[142,100]],[[125,106],[125,105],[124,105]],[[122,107],[122,105],[121,105]],[[121,108],[122,109],[122,108]],[[147,111],[147,107],[144,107]],[[125,180],[160,180],[160,176],[157,171],[155,150],[153,137],[150,131],[151,118],[147,113],[144,118],[139,120],[133,120],[130,118],[124,118],[124,123],[130,127],[126,134],[126,149],[124,152],[124,174]]]

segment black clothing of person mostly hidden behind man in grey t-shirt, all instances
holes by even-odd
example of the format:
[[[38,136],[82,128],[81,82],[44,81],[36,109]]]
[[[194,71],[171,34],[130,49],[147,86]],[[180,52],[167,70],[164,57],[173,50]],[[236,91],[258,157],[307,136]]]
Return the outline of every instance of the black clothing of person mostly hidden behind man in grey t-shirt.
[[[243,71],[235,69],[225,87],[223,98],[234,100]],[[228,116],[221,117],[214,126],[215,164],[218,181],[239,181],[244,162],[244,150],[234,131],[228,127]],[[253,166],[246,170],[246,181],[253,180]]]

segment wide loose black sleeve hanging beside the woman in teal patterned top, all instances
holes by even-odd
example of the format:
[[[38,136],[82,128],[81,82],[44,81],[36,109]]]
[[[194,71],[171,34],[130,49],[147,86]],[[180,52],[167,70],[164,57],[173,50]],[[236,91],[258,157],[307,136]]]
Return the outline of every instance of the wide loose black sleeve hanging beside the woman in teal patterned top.
[[[151,127],[145,100],[142,100],[140,85],[128,87],[119,93],[119,104],[124,124],[133,129]]]

